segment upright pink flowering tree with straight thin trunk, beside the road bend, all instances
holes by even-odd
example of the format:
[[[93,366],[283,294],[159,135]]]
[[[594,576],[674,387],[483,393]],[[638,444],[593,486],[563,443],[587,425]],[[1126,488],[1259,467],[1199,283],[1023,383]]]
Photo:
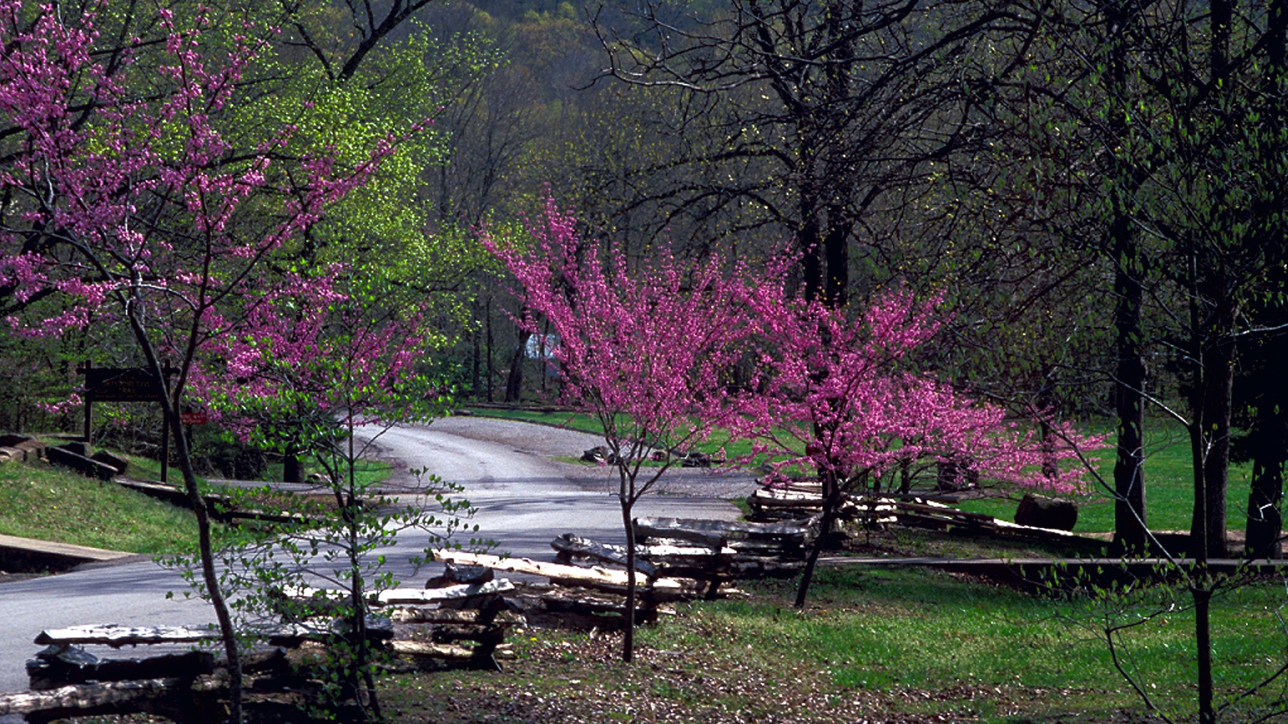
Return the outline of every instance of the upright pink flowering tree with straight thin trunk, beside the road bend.
[[[652,451],[687,450],[735,406],[723,374],[743,354],[751,317],[739,304],[737,276],[717,263],[690,264],[659,249],[629,260],[621,249],[583,238],[553,201],[531,229],[531,249],[502,246],[483,233],[522,285],[523,304],[559,336],[563,398],[592,415],[618,477],[626,532],[626,609],[622,658],[630,661],[635,624],[632,509],[675,460]],[[524,319],[536,330],[532,318]]]

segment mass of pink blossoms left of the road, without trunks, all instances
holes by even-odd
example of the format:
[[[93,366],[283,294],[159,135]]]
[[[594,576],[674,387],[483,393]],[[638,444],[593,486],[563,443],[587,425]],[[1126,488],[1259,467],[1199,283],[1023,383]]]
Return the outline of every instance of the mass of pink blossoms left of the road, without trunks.
[[[112,54],[95,53],[89,6],[75,15],[45,5],[32,18],[21,0],[0,0],[0,113],[17,131],[0,171],[0,195],[12,200],[0,291],[23,304],[57,299],[9,317],[10,327],[58,336],[135,319],[160,357],[196,363],[179,385],[209,401],[317,388],[309,375],[325,376],[328,356],[346,359],[358,386],[386,389],[410,374],[420,310],[368,325],[337,290],[340,269],[304,278],[264,264],[366,183],[399,139],[381,140],[354,169],[323,155],[270,173],[292,129],[238,157],[214,122],[261,41],[237,36],[213,63],[202,48],[210,19],[198,9],[179,27],[162,8],[162,89],[142,95],[122,80],[129,48],[112,70],[97,59]],[[268,205],[251,210],[254,196]]]

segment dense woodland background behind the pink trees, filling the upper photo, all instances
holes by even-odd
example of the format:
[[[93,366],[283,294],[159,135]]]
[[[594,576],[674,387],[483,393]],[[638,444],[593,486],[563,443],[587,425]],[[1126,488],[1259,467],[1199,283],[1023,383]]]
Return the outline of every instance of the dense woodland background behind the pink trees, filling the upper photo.
[[[636,258],[662,240],[730,268],[796,251],[800,292],[855,310],[896,287],[942,294],[917,365],[1016,412],[1114,430],[1130,545],[1150,421],[1184,421],[1195,532],[1218,555],[1231,459],[1253,461],[1251,549],[1280,529],[1285,4],[242,0],[206,4],[206,43],[272,45],[213,120],[241,143],[229,164],[274,124],[353,161],[433,119],[277,268],[344,262],[390,298],[431,299],[425,372],[457,399],[558,397],[514,322],[514,282],[477,241],[483,225],[522,240],[549,196]],[[156,9],[106,4],[98,28],[108,67],[147,79]],[[0,151],[13,164],[22,134],[0,128]],[[0,200],[6,229],[23,204]],[[58,304],[19,287],[0,282],[6,317]],[[84,359],[137,363],[121,334],[0,338],[0,426],[77,429],[76,408],[49,405]],[[98,437],[153,446],[149,415],[104,411]],[[259,464],[200,435],[211,466]]]

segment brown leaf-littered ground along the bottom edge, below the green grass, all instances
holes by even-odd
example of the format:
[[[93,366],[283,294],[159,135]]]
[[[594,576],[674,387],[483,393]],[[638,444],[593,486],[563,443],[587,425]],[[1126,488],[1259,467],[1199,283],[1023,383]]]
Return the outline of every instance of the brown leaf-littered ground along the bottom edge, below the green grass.
[[[388,684],[386,701],[401,724],[1150,721],[1131,712],[1050,712],[1052,701],[1087,693],[1077,688],[842,691],[826,671],[804,665],[765,671],[724,656],[644,645],[627,666],[618,647],[617,635],[533,642],[504,674],[399,676]]]

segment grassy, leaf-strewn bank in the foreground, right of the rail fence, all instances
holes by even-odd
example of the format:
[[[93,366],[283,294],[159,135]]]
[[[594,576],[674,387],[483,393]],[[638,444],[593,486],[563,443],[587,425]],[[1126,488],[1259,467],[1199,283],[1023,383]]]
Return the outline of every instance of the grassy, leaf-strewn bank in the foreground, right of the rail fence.
[[[1104,608],[1090,602],[923,569],[824,571],[804,613],[790,594],[768,586],[750,600],[681,608],[640,631],[631,666],[616,661],[616,635],[526,631],[505,672],[403,675],[389,681],[389,701],[407,724],[1123,721],[1123,710],[1142,712],[1096,635]],[[1222,696],[1282,662],[1274,608],[1283,598],[1267,585],[1221,599]],[[1193,617],[1164,618],[1127,644],[1148,691],[1188,714]]]

